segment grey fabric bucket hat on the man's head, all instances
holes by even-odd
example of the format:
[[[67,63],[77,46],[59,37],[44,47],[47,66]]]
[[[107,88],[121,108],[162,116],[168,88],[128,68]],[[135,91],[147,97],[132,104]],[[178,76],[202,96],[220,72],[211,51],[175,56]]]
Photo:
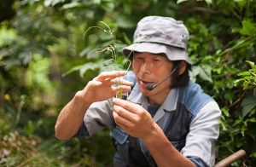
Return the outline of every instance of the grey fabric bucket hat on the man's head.
[[[133,43],[123,49],[128,58],[133,52],[166,54],[169,60],[185,60],[192,65],[187,53],[189,31],[183,21],[171,17],[147,16],[137,23]]]

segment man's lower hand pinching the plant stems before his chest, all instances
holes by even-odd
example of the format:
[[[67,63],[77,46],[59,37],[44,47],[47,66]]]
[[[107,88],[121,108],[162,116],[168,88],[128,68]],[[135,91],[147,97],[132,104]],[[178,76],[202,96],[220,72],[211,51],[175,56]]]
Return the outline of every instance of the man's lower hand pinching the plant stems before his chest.
[[[148,139],[155,127],[151,115],[143,107],[121,99],[113,99],[113,118],[129,135]]]

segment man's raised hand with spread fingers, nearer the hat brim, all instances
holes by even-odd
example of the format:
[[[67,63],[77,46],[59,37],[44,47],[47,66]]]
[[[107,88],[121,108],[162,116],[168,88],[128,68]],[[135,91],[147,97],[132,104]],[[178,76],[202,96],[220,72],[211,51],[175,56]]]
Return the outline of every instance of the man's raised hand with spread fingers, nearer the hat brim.
[[[126,73],[125,71],[100,73],[80,92],[84,101],[92,103],[107,100],[116,95],[119,89],[121,89],[124,94],[131,91],[131,85],[133,83],[120,78],[125,76]],[[114,87],[113,84],[117,86]]]

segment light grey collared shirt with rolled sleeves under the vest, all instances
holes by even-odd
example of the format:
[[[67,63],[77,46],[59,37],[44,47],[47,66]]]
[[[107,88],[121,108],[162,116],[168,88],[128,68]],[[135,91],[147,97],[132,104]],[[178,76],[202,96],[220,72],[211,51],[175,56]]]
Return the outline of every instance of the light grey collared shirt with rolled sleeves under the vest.
[[[166,112],[172,112],[177,108],[177,94],[179,89],[172,89],[166,97],[166,101],[154,114],[154,121],[161,128],[165,124]],[[137,103],[147,109],[148,99],[139,91],[137,84],[131,91],[128,101]],[[218,139],[218,120],[221,112],[215,101],[209,101],[189,124],[189,134],[186,137],[185,146],[181,153],[186,157],[198,157],[209,166],[213,166],[215,160],[215,141]],[[113,103],[110,100],[98,101],[88,108],[84,115],[84,125],[88,135],[94,135],[105,127],[113,129]],[[143,142],[140,141],[143,149]]]

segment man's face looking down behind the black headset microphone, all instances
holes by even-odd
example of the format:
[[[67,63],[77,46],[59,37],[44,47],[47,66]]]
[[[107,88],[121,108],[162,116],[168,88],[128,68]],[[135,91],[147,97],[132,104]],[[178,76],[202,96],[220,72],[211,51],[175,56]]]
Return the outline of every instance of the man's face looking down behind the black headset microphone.
[[[154,55],[148,52],[137,53],[133,56],[132,68],[136,74],[137,83],[143,95],[168,95],[171,78],[160,83],[153,90],[147,89],[147,84],[156,84],[166,78],[172,72],[172,61],[166,55]]]

